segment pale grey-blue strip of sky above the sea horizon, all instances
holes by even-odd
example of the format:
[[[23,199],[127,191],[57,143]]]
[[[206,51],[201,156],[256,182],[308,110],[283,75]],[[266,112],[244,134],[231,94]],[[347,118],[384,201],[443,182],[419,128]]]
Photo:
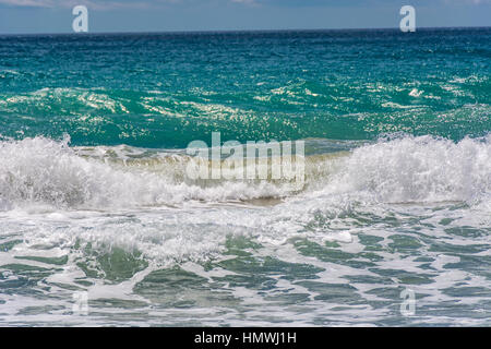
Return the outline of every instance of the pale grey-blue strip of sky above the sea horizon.
[[[91,33],[491,25],[491,0],[0,0],[0,34],[71,33],[76,4]]]

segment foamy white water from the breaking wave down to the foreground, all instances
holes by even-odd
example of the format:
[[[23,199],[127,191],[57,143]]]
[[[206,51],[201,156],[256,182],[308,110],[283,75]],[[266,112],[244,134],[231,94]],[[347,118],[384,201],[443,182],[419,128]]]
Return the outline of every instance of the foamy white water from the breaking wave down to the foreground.
[[[0,171],[3,324],[488,324],[489,137],[312,156],[296,194],[183,184],[168,161],[135,169],[104,152],[2,144],[15,154]],[[81,291],[88,310],[73,315]]]

